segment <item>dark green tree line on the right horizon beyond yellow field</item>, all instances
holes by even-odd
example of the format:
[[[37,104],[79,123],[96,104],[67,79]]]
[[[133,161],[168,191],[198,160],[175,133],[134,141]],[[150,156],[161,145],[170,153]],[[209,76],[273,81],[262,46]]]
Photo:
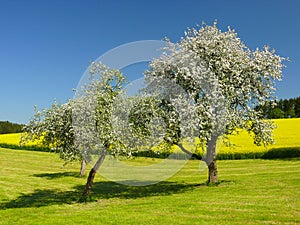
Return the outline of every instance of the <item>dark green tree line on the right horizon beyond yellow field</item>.
[[[300,117],[300,96],[290,99],[280,99],[274,102],[266,102],[257,106],[256,110],[261,111],[264,118],[299,118]]]

